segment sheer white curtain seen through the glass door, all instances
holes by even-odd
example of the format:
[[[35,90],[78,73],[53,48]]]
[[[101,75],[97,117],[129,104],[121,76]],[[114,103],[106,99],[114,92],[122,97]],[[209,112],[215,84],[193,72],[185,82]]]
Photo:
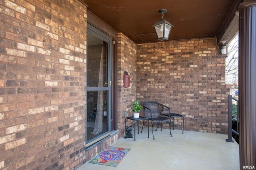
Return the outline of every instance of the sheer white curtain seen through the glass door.
[[[103,44],[102,51],[101,51],[101,57],[100,57],[100,72],[99,72],[99,82],[98,87],[103,87],[103,57],[105,54],[105,45]],[[103,91],[98,91],[98,99],[97,99],[97,112],[96,112],[96,119],[95,119],[95,125],[94,129],[92,130],[92,134],[96,135],[99,134],[102,131],[103,128]]]

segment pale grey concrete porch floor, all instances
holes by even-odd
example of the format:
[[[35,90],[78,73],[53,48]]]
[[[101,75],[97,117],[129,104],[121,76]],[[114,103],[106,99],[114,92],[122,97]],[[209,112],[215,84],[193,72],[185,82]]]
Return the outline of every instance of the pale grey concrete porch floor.
[[[86,163],[79,170],[238,170],[239,146],[226,142],[227,135],[163,129],[148,129],[136,141],[120,138],[112,146],[130,148],[117,167]],[[134,133],[134,129],[133,132]],[[134,136],[134,134],[133,134]]]

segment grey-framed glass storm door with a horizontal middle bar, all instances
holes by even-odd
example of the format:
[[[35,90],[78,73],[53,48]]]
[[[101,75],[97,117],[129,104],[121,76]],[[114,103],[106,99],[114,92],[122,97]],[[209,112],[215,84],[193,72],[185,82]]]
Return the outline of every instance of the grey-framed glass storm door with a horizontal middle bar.
[[[86,76],[86,144],[111,131],[111,37],[88,24]]]

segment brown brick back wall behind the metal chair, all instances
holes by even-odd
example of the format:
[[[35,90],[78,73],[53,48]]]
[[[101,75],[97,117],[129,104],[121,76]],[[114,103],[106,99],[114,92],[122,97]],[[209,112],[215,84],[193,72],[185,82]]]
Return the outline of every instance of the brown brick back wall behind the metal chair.
[[[215,38],[138,44],[137,57],[137,100],[184,115],[185,130],[227,132],[229,89]]]

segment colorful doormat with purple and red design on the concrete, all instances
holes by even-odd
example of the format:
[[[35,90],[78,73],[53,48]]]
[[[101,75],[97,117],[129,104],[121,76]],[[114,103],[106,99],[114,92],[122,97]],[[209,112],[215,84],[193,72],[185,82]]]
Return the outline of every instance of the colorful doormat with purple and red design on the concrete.
[[[100,154],[98,154],[95,158],[90,160],[89,163],[108,166],[118,166],[118,164],[130,150],[131,149],[120,147],[108,147],[102,152],[100,152]]]

